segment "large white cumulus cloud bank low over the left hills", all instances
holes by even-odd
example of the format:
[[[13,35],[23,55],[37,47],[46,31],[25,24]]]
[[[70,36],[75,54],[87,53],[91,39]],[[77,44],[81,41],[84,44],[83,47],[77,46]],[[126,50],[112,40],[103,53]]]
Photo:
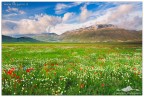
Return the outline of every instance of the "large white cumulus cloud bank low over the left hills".
[[[54,27],[61,22],[61,17],[48,15],[40,15],[34,19],[21,19],[19,21],[2,20],[2,34],[40,34],[47,32],[48,27]]]

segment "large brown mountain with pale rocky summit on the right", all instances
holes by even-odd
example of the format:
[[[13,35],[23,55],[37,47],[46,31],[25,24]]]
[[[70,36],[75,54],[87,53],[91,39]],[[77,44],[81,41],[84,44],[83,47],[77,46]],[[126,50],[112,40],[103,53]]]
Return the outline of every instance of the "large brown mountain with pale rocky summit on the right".
[[[142,41],[142,31],[101,24],[65,32],[60,36],[60,40],[63,42],[134,42]]]

